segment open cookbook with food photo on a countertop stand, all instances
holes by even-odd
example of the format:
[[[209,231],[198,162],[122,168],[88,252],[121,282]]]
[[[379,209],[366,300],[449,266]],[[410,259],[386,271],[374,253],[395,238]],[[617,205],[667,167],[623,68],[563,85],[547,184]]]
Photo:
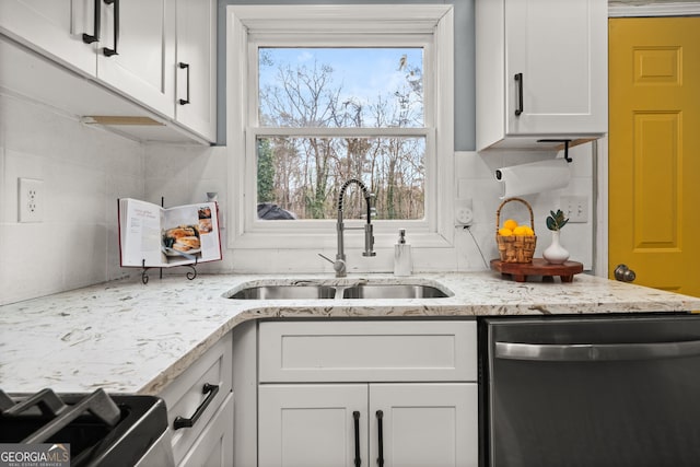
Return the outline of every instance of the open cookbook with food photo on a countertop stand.
[[[119,199],[121,266],[167,268],[220,260],[218,212],[215,201],[162,208]]]

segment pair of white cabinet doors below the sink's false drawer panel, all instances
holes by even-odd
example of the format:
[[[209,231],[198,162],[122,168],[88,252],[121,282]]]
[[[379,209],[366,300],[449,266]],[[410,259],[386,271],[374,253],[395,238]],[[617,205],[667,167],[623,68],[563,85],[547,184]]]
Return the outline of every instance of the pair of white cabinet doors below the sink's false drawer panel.
[[[260,467],[478,465],[476,383],[271,384],[258,397]]]

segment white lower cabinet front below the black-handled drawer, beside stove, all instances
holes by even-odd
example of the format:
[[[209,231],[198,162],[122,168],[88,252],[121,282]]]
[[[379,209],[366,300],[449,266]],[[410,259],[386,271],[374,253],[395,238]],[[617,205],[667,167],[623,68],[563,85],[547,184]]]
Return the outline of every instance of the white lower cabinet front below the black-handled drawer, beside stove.
[[[179,467],[230,467],[233,465],[233,394],[189,450]]]

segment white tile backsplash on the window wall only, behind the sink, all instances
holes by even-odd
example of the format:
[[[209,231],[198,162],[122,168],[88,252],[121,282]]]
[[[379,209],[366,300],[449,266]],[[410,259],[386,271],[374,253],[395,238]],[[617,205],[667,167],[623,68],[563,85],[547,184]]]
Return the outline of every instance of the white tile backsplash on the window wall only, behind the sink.
[[[568,224],[562,234],[562,244],[570,250],[571,259],[592,267],[593,223],[592,185],[593,164],[591,144],[570,150],[572,180],[565,189],[540,195],[524,196],[533,207],[535,231],[538,235],[536,256],[549,245],[550,234],[545,226],[545,219],[550,210],[559,208],[562,195],[586,196],[588,198],[590,221],[587,223]],[[561,154],[559,154],[561,156]],[[222,237],[226,240],[230,227],[226,206],[228,199],[228,164],[225,148],[175,148],[151,145],[147,148],[147,199],[160,202],[165,197],[165,205],[198,202],[206,199],[207,191],[218,191],[221,210],[224,214]],[[541,159],[552,154],[537,152],[457,152],[455,154],[455,174],[458,197],[471,198],[474,202],[475,223],[470,231],[456,227],[453,248],[413,248],[416,271],[471,271],[488,269],[488,261],[498,257],[495,247],[495,212],[502,200],[499,199],[500,185],[494,177],[494,170],[504,165],[516,165]],[[529,213],[520,203],[508,203],[502,215],[515,206],[512,212],[516,220],[529,223]],[[441,207],[452,211],[452,206]],[[521,218],[517,218],[520,215]],[[502,218],[503,221],[505,218]],[[335,224],[328,226],[329,235],[335,236]],[[474,236],[472,236],[474,235]],[[388,272],[393,270],[393,244],[377,244],[377,256],[361,256],[361,240],[357,245],[353,237],[346,238],[348,266],[351,272]],[[270,245],[267,249],[224,249],[224,260],[200,265],[202,271],[226,272],[327,272],[332,273],[331,265],[318,257],[318,253],[334,257],[334,250],[284,249],[283,245]],[[176,271],[173,271],[177,273]]]

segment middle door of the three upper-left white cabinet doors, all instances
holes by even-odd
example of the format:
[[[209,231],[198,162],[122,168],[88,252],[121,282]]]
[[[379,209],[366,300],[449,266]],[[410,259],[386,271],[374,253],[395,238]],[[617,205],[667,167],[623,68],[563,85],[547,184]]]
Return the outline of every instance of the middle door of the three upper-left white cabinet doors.
[[[173,117],[174,0],[117,0],[103,4],[102,11],[97,78],[151,109]],[[116,48],[117,54],[107,56],[104,48]]]

